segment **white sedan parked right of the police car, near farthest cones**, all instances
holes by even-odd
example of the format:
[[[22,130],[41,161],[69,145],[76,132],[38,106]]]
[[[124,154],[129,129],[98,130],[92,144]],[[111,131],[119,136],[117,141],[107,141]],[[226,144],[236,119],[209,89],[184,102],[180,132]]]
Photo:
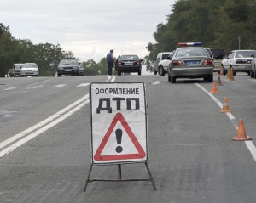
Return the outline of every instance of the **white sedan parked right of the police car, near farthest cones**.
[[[221,65],[223,65],[223,74],[227,73],[230,68],[233,70],[233,75],[236,72],[247,72],[250,75],[251,72],[251,61],[253,57],[251,55],[256,55],[255,50],[233,50],[230,52],[227,58],[223,59]]]

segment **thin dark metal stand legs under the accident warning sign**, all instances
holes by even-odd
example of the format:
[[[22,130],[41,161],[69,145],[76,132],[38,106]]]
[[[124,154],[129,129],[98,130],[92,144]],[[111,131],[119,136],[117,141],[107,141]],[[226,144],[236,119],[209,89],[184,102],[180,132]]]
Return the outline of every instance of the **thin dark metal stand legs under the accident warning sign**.
[[[117,166],[118,166],[118,178],[117,179],[90,179],[90,172],[91,172],[92,166],[93,166],[93,163],[91,163],[89,173],[88,173],[88,177],[87,177],[86,182],[85,182],[84,191],[87,188],[87,184],[91,183],[91,182],[94,182],[94,181],[106,181],[106,182],[151,181],[154,190],[156,190],[156,187],[155,187],[155,184],[154,184],[154,179],[153,179],[152,174],[151,174],[151,172],[149,170],[149,167],[148,167],[148,162],[144,161],[143,163],[145,163],[147,171],[148,171],[148,175],[149,175],[148,179],[122,179],[121,164],[117,164]]]

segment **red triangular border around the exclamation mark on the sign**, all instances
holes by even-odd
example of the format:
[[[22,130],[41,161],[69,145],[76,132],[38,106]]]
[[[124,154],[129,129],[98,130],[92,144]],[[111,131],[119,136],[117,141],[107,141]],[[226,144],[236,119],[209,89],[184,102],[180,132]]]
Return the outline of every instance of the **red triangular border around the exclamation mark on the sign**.
[[[110,137],[111,133],[113,133],[113,129],[116,126],[117,122],[120,122],[124,127],[126,133],[131,138],[132,144],[134,144],[135,148],[137,149],[138,153],[136,154],[123,154],[123,155],[102,155],[102,150],[104,149],[105,145],[108,142],[108,138]],[[135,137],[134,133],[132,133],[131,128],[129,127],[127,121],[125,121],[124,116],[121,113],[117,113],[113,121],[108,127],[108,131],[102,139],[102,143],[99,145],[99,148],[96,150],[96,154],[94,155],[95,161],[118,161],[118,160],[134,160],[134,159],[143,159],[146,156],[144,149],[142,148],[141,144],[138,142],[137,138]]]

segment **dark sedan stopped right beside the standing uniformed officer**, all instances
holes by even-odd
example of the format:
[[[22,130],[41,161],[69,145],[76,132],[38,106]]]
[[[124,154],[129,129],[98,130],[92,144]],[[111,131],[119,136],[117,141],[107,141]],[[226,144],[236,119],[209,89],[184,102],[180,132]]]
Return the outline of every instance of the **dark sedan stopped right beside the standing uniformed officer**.
[[[120,76],[125,72],[137,72],[137,75],[142,75],[142,62],[137,55],[121,55],[115,62],[115,70]]]

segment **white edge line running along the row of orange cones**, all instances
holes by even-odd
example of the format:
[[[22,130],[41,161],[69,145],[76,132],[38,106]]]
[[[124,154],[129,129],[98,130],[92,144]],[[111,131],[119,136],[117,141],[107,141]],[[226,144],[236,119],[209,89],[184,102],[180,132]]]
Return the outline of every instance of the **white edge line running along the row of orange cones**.
[[[201,87],[201,85],[199,85],[198,83],[195,83],[195,85],[197,85],[198,87],[200,87],[201,88],[201,90],[203,90],[205,93],[207,93],[217,104],[218,104],[218,106],[220,106],[220,104],[219,104],[219,101],[218,101],[218,99],[217,98],[215,98],[213,95],[212,95],[212,93],[209,93],[204,87]],[[221,109],[222,109],[222,106],[223,106],[223,104],[221,104]],[[229,118],[230,118],[230,120],[232,121],[232,120],[234,120],[234,119],[236,119],[235,118],[235,116],[233,116],[231,113],[225,113]],[[233,122],[234,123],[234,122]],[[234,125],[235,125],[235,127],[236,127],[236,129],[238,129],[238,127],[236,126],[236,124],[234,123]],[[248,137],[248,135],[247,135],[247,137]],[[251,141],[251,140],[247,140],[247,141],[244,141],[244,143],[247,145],[247,149],[249,149],[249,151],[251,152],[251,154],[253,155],[253,159],[254,159],[254,161],[256,161],[256,147],[255,147],[255,145],[253,144],[253,141]]]

